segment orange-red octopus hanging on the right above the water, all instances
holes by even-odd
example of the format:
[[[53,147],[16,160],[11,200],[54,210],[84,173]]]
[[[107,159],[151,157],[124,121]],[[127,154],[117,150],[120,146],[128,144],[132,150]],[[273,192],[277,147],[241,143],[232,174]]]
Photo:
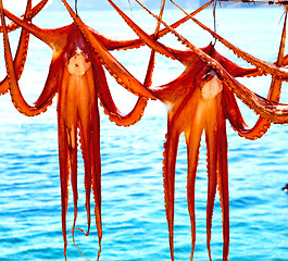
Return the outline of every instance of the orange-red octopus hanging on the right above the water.
[[[170,231],[171,257],[174,260],[173,227],[174,227],[174,200],[175,200],[175,164],[179,135],[185,134],[188,153],[187,198],[188,210],[191,220],[192,250],[196,245],[196,216],[195,216],[195,182],[198,165],[198,154],[202,132],[205,132],[208,149],[208,202],[206,202],[206,245],[211,257],[211,227],[216,187],[220,191],[220,200],[223,212],[223,260],[228,260],[229,246],[229,199],[228,199],[228,167],[227,167],[227,137],[226,120],[240,136],[255,139],[263,136],[270,126],[270,121],[260,117],[253,128],[248,128],[241,116],[240,110],[230,90],[218,70],[225,72],[230,78],[242,76],[256,76],[261,73],[258,67],[240,67],[216,52],[210,44],[205,48],[198,49],[205,55],[205,60],[195,50],[180,51],[168,48],[154,41],[139,26],[137,26],[125,13],[123,13],[111,0],[111,5],[120,13],[134,32],[146,41],[153,50],[181,62],[186,70],[173,82],[160,87],[149,87],[151,92],[166,104],[167,134],[164,144],[163,181],[165,195],[165,210]],[[139,3],[139,1],[137,1]],[[142,5],[142,4],[140,4]],[[142,5],[143,7],[143,5]],[[150,11],[149,11],[150,12]],[[151,13],[151,12],[150,12]],[[186,13],[187,14],[187,13]],[[188,14],[187,14],[188,15]],[[154,15],[156,20],[156,17]],[[192,17],[196,20],[195,17]],[[163,22],[162,22],[163,23]],[[164,23],[163,23],[164,24]],[[170,26],[166,28],[177,35]],[[286,22],[284,24],[278,59],[275,65],[284,64],[284,47],[286,39]],[[211,65],[215,61],[221,69],[215,70]],[[265,63],[265,62],[263,62]],[[256,64],[254,64],[256,65]],[[260,67],[260,66],[259,66]],[[279,100],[283,79],[273,75],[268,99]],[[243,96],[249,96],[245,92]]]

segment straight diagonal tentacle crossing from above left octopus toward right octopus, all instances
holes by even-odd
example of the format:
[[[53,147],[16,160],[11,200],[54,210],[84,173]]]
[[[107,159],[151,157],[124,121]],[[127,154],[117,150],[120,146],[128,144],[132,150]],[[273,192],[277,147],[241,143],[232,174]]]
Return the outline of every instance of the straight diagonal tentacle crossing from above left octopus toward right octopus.
[[[139,83],[139,80],[134,78],[130,73],[122,64],[120,64],[118,61],[110,52],[108,52],[103,45],[91,35],[89,29],[87,29],[82,20],[76,16],[67,2],[65,0],[62,0],[62,2],[66,7],[67,11],[73,17],[75,24],[80,29],[87,42],[89,42],[89,45],[93,49],[99,61],[107,67],[109,73],[117,80],[117,83],[135,95],[154,99],[151,92],[147,88],[145,88]]]

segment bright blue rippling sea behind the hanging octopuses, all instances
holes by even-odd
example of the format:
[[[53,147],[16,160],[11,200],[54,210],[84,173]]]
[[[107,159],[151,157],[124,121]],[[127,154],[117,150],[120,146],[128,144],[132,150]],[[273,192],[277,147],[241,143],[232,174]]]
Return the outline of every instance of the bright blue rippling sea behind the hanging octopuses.
[[[284,22],[283,8],[216,10],[216,30],[242,50],[268,62],[276,61]],[[155,27],[149,14],[127,10],[145,30]],[[21,14],[21,13],[18,13]],[[85,23],[111,39],[133,39],[135,34],[114,10],[79,10]],[[173,23],[181,17],[178,10],[166,10],[164,20]],[[209,9],[197,16],[213,27]],[[34,23],[43,28],[67,25],[72,20],[61,12],[43,11]],[[198,47],[213,38],[187,22],[178,32]],[[17,46],[18,32],[10,35],[12,49]],[[161,39],[167,46],[183,49],[173,35]],[[247,65],[221,42],[216,49],[223,55]],[[2,47],[1,47],[2,53]],[[42,90],[51,50],[35,37],[30,39],[27,63],[20,80],[23,96],[34,102]],[[143,80],[150,50],[115,51],[113,55],[139,80]],[[3,55],[1,78],[5,75]],[[156,55],[154,85],[177,77],[184,66]],[[108,74],[116,104],[128,112],[136,98],[127,94]],[[271,77],[240,79],[262,96],[267,95]],[[288,103],[287,84],[281,102]],[[247,123],[253,125],[256,115],[239,101]],[[166,108],[150,101],[142,120],[130,127],[118,127],[101,114],[102,156],[102,221],[101,260],[159,261],[170,260],[168,232],[164,210],[162,160],[166,133]],[[230,246],[231,261],[288,260],[288,194],[281,190],[288,183],[288,126],[272,125],[259,140],[240,138],[227,123]],[[175,260],[190,259],[190,220],[186,196],[186,144],[181,137],[176,166]],[[84,166],[79,154],[77,226],[87,227],[84,191]],[[209,260],[205,238],[206,150],[202,137],[196,182],[197,244],[195,260]],[[72,195],[72,192],[70,194]],[[73,225],[73,200],[70,198],[67,231]],[[90,260],[97,259],[98,236],[95,223],[86,237],[75,232],[76,243]],[[215,201],[212,229],[212,258],[222,260],[222,214],[218,197]],[[68,260],[84,260],[68,236]],[[61,232],[61,198],[58,163],[57,98],[52,107],[39,116],[26,117],[12,105],[9,94],[0,97],[0,260],[64,260]]]

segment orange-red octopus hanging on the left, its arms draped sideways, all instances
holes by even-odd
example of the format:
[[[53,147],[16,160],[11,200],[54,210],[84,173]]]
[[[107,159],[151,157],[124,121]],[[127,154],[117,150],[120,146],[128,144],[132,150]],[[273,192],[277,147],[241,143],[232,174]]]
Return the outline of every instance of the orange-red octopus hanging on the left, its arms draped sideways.
[[[30,7],[30,1],[27,7]],[[164,5],[163,5],[164,7]],[[102,225],[101,225],[101,159],[100,159],[100,122],[98,110],[98,97],[104,108],[104,112],[109,114],[110,120],[117,125],[128,126],[135,124],[142,116],[143,110],[147,105],[147,98],[150,97],[138,80],[129,82],[122,75],[117,78],[123,86],[129,89],[129,85],[138,86],[138,89],[133,92],[141,95],[138,99],[134,110],[127,114],[122,115],[108,87],[104,75],[104,70],[93,50],[89,47],[85,37],[82,35],[75,23],[57,29],[41,29],[27,20],[14,16],[5,11],[5,15],[14,21],[15,24],[23,27],[25,34],[33,34],[40,40],[45,41],[52,50],[52,61],[50,71],[45,85],[45,88],[37,99],[30,105],[26,103],[23,98],[17,79],[22,73],[25,63],[27,45],[24,42],[25,37],[21,37],[18,52],[13,61],[10,44],[8,38],[8,28],[4,22],[4,10],[2,1],[0,1],[1,23],[4,36],[4,53],[8,77],[5,85],[10,83],[10,92],[12,102],[15,108],[27,116],[34,116],[45,112],[48,105],[51,104],[52,98],[58,94],[58,132],[59,132],[59,162],[60,162],[60,181],[61,181],[61,201],[62,201],[62,233],[64,239],[64,256],[66,258],[66,212],[68,199],[68,179],[71,172],[73,198],[74,198],[74,224],[73,224],[73,240],[74,231],[77,219],[77,129],[79,129],[80,145],[83,149],[83,158],[85,164],[85,189],[86,189],[86,210],[88,229],[85,233],[89,235],[90,229],[90,194],[93,190],[95,198],[95,215],[99,238],[99,252],[101,251]],[[27,8],[29,14],[29,8]],[[161,15],[163,8],[161,11]],[[35,11],[34,11],[35,15]],[[87,27],[88,28],[88,27]],[[104,38],[97,32],[89,28],[93,37],[100,39],[100,51],[109,57],[110,63],[116,65],[113,70],[127,72],[109,52],[109,50],[129,48],[129,45],[139,42],[133,41],[113,41]],[[154,39],[158,38],[159,26],[154,33]],[[23,39],[24,38],[24,39]],[[145,85],[151,83],[152,67],[153,67],[154,52],[152,51],[150,64],[146,77]],[[117,71],[116,71],[117,72]],[[110,70],[111,74],[115,72]],[[5,87],[8,88],[8,87]],[[75,244],[75,240],[74,240]],[[75,244],[76,245],[76,244]]]

